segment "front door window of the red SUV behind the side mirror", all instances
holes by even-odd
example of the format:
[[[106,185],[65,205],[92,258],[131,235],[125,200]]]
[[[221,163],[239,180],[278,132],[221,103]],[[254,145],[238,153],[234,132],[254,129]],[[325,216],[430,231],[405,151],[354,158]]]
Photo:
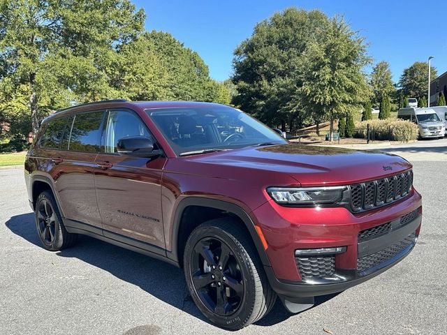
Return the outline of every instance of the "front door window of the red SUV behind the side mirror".
[[[118,140],[130,136],[152,137],[147,126],[135,112],[112,110],[108,114],[105,128],[105,152],[117,152]]]

